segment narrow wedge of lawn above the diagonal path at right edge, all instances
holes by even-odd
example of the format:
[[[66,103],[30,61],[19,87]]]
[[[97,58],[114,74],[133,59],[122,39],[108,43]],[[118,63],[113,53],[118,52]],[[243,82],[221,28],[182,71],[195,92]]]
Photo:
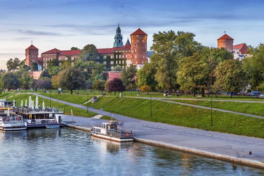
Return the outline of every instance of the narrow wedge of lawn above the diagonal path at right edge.
[[[170,100],[170,101],[211,107],[211,101],[199,101],[199,100]],[[247,113],[247,114],[253,114],[253,115],[258,115],[258,116],[264,116],[264,103],[240,103],[240,102],[212,101],[212,107],[223,109],[223,110],[235,111],[239,113]]]

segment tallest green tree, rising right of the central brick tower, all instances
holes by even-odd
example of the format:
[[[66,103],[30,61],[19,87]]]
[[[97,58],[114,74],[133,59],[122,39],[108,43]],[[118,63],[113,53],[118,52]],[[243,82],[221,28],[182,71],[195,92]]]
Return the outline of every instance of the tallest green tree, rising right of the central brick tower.
[[[179,59],[192,56],[195,51],[201,48],[201,44],[194,40],[195,35],[189,32],[174,31],[159,32],[153,35],[151,50],[153,55],[151,62],[157,71],[155,80],[162,89],[171,90],[177,86]]]

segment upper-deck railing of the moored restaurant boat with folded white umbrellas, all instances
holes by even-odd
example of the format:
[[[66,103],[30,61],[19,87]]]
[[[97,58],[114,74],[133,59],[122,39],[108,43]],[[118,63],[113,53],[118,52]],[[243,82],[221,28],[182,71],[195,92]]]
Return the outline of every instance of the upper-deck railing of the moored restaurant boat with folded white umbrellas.
[[[30,113],[64,113],[64,108],[28,108],[28,107],[16,107],[15,112],[22,114]]]

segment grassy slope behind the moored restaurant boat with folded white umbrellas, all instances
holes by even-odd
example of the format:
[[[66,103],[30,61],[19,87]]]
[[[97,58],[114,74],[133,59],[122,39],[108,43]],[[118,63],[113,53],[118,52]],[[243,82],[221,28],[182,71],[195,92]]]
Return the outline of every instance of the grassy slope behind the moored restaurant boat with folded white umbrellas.
[[[17,105],[21,105],[21,100],[23,100],[23,104],[25,105],[26,99],[27,99],[27,102],[29,101],[29,96],[31,96],[31,98],[35,102],[36,96],[30,95],[30,94],[19,94],[19,95],[16,95],[16,96],[12,97],[12,98],[9,98],[8,100],[9,101],[13,101],[15,99],[15,101],[17,102]],[[45,106],[50,106],[50,101],[49,100],[39,97],[39,105],[40,106],[42,106],[42,102],[43,101],[45,102]],[[72,114],[74,116],[92,117],[92,116],[96,115],[96,113],[93,113],[91,111],[89,111],[89,113],[87,114],[86,110],[82,110],[82,109],[79,109],[79,108],[71,107],[71,106],[68,106],[68,105],[65,105],[65,104],[61,104],[61,103],[57,103],[57,102],[54,102],[54,101],[51,101],[51,106],[52,107],[65,108],[65,114],[69,114],[69,115],[71,114],[70,110],[72,110]]]

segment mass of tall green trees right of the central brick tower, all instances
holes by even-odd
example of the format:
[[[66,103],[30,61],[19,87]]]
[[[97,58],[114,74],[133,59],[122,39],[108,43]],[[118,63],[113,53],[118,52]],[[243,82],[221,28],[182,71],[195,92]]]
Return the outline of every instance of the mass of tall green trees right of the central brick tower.
[[[209,48],[194,40],[189,32],[159,32],[153,35],[151,63],[137,72],[137,85],[152,90],[233,92],[246,85],[264,90],[264,45],[250,47],[247,57],[239,62],[226,49]]]

